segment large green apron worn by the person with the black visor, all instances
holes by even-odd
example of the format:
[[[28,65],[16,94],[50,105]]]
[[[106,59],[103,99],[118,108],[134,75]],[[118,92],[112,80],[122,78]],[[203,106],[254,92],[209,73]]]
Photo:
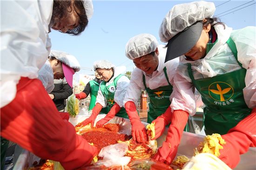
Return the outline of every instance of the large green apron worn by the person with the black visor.
[[[228,39],[227,44],[237,60],[236,44],[231,38]],[[237,62],[242,67],[238,60]],[[195,80],[189,63],[188,72],[205,105],[203,122],[207,135],[226,134],[229,129],[250,114],[251,109],[243,98],[246,69],[242,67],[234,72]]]

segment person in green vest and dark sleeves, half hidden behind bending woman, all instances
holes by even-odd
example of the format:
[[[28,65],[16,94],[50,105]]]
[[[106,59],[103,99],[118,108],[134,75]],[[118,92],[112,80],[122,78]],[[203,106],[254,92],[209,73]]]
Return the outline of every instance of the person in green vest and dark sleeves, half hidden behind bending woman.
[[[97,73],[95,70],[95,78],[87,83],[84,90],[78,94],[75,94],[75,97],[79,100],[87,98],[90,94],[91,100],[89,105],[89,111],[92,110],[95,106],[96,98],[98,95],[99,87],[101,83],[101,76]],[[107,114],[108,113],[107,108],[102,108],[100,114]]]

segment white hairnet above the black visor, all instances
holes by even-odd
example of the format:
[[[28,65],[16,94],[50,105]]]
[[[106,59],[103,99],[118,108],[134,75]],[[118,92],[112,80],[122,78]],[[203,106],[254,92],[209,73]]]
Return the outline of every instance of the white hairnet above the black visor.
[[[211,18],[216,8],[213,2],[195,1],[191,3],[178,4],[166,14],[159,29],[162,42],[168,42],[177,33],[186,27],[193,25],[196,21]]]

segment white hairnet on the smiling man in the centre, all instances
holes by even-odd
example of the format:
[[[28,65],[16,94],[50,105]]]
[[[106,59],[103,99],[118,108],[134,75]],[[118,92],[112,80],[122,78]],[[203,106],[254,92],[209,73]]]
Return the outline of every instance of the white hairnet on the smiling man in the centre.
[[[136,59],[154,52],[158,46],[156,38],[148,33],[141,33],[129,39],[125,47],[125,55],[129,59]]]

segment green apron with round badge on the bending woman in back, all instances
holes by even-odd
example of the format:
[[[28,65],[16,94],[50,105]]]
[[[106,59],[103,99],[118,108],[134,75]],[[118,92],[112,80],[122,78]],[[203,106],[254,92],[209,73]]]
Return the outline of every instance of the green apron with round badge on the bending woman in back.
[[[107,99],[107,106],[105,108],[108,111],[110,111],[112,106],[115,104],[114,96],[115,96],[116,84],[117,84],[117,81],[119,80],[119,78],[121,78],[122,76],[124,76],[124,75],[120,74],[119,76],[114,78],[114,81],[108,86],[106,86],[105,81],[101,82],[101,85],[100,85],[101,92],[102,92],[103,96]],[[115,116],[122,117],[122,118],[128,118],[128,114],[126,113],[124,107],[121,107],[121,110]]]

